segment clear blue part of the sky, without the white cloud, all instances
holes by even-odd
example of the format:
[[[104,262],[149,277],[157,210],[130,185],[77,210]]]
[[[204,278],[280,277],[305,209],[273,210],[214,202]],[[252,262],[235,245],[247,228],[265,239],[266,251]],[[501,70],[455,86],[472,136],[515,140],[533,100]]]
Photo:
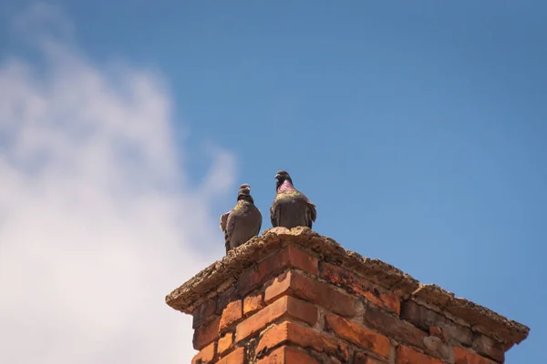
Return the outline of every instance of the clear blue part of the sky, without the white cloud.
[[[0,5],[0,56],[39,67],[10,25],[29,4]],[[189,185],[209,186],[212,149],[231,153],[212,217],[245,182],[270,227],[283,168],[317,232],[528,325],[507,362],[541,362],[547,4],[53,4],[90,63],[162,77]],[[213,234],[201,248],[223,247]]]

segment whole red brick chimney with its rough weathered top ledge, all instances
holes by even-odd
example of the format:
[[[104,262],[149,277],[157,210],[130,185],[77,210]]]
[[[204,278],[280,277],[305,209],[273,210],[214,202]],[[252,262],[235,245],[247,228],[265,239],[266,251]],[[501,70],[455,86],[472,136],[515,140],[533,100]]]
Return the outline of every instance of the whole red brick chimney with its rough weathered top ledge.
[[[307,227],[275,227],[166,297],[192,363],[495,364],[530,331]]]

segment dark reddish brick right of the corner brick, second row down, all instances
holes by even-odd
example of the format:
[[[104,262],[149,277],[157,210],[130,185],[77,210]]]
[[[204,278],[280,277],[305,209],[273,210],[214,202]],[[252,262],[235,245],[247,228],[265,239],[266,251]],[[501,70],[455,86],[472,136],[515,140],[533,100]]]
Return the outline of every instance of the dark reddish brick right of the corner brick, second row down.
[[[388,338],[396,339],[398,342],[410,344],[420,349],[427,349],[423,340],[428,334],[407,321],[371,307],[366,308],[364,319],[368,328],[375,329]]]

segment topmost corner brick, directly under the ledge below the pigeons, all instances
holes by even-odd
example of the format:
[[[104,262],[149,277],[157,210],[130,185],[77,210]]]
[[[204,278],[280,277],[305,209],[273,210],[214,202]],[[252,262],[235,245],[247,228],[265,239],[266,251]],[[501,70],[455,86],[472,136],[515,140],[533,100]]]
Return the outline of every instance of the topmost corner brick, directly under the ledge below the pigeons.
[[[313,275],[319,274],[317,259],[304,253],[302,250],[289,246],[276,252],[273,256],[265,258],[255,268],[243,272],[237,282],[237,288],[243,295],[249,293],[266,278],[280,273],[285,267],[299,268]]]

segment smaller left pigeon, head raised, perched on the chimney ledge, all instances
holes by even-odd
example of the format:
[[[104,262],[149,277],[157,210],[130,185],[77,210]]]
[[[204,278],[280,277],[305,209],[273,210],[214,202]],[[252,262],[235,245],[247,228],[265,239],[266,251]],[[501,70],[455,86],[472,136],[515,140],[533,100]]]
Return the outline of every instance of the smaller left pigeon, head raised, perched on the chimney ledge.
[[[239,247],[250,238],[257,236],[260,227],[262,227],[262,214],[254,206],[251,187],[243,184],[239,187],[237,203],[232,211],[221,216],[221,230],[224,231],[226,254],[232,248]]]

